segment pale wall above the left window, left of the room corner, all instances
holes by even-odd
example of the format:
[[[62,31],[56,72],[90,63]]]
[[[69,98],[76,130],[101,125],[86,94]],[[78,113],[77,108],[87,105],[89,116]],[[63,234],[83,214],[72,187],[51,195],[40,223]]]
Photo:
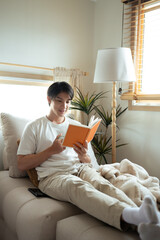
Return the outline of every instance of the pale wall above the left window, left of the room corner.
[[[90,68],[94,3],[0,0],[0,61]]]

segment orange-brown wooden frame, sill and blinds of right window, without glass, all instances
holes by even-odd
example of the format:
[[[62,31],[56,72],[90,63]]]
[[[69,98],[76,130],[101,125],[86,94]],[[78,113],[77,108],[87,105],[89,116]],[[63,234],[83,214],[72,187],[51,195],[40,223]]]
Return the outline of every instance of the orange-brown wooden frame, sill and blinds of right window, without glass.
[[[130,40],[129,47],[131,48],[133,61],[135,63],[137,81],[135,83],[129,83],[128,91],[121,95],[122,100],[128,100],[128,109],[129,110],[145,110],[145,111],[160,111],[160,93],[159,94],[144,94],[140,90],[142,78],[141,71],[142,69],[139,66],[142,66],[143,58],[139,57],[143,54],[143,31],[144,31],[144,5],[149,3],[160,2],[160,0],[122,0],[124,8],[129,5],[133,8],[135,7],[137,13],[131,12],[130,20],[136,21],[136,24],[133,26],[130,24]],[[135,4],[135,6],[133,5]],[[134,6],[134,7],[133,7]],[[125,18],[125,10],[123,11],[123,21]],[[137,18],[136,18],[137,17]],[[136,20],[135,20],[136,19]],[[124,26],[123,26],[124,27]],[[124,31],[123,31],[124,32]],[[124,38],[124,36],[122,36]],[[132,45],[132,43],[134,43]],[[135,46],[136,44],[136,46]],[[125,43],[123,42],[125,46]],[[135,50],[136,49],[136,50]],[[141,52],[140,52],[141,51]],[[137,59],[138,58],[138,59]]]

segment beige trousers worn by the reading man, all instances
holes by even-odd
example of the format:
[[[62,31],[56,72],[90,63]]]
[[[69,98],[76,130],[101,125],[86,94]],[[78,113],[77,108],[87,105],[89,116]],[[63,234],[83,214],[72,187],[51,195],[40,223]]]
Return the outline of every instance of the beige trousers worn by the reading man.
[[[124,208],[136,207],[91,165],[83,164],[77,175],[59,173],[40,180],[39,188],[52,198],[68,201],[95,218],[121,230]]]

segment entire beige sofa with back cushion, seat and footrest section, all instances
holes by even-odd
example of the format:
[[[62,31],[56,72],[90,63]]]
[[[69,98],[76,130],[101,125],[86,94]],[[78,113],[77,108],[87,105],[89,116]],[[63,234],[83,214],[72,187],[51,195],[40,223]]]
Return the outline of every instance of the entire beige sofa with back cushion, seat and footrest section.
[[[28,191],[34,186],[16,165],[17,139],[27,121],[1,113],[0,239],[138,240],[137,233],[120,232],[70,203],[36,198]]]

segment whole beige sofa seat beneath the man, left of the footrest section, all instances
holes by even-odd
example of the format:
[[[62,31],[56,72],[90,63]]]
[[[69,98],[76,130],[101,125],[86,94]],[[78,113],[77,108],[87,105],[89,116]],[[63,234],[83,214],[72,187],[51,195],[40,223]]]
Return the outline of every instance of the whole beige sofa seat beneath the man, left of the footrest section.
[[[58,220],[82,212],[70,203],[36,198],[28,191],[34,187],[28,178],[10,178],[7,174],[0,172],[0,218],[19,240],[53,240]]]

